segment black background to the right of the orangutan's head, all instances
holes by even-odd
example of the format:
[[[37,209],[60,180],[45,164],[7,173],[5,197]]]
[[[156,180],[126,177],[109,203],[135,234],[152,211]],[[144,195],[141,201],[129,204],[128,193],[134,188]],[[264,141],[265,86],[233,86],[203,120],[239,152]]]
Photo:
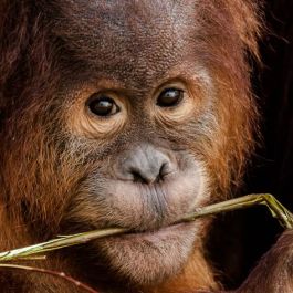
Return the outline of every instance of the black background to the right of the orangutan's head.
[[[263,138],[241,192],[270,192],[293,211],[293,0],[266,0],[264,13],[263,66],[253,76]],[[238,286],[282,231],[262,207],[219,218],[209,243],[222,281]]]

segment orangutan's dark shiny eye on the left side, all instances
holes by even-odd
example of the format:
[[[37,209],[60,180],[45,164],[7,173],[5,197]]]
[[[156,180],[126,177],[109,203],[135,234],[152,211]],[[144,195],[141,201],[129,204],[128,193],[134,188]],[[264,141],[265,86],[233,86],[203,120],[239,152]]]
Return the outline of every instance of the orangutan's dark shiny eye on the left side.
[[[87,107],[96,116],[103,117],[115,115],[121,111],[112,97],[101,94],[93,94],[87,102]]]

